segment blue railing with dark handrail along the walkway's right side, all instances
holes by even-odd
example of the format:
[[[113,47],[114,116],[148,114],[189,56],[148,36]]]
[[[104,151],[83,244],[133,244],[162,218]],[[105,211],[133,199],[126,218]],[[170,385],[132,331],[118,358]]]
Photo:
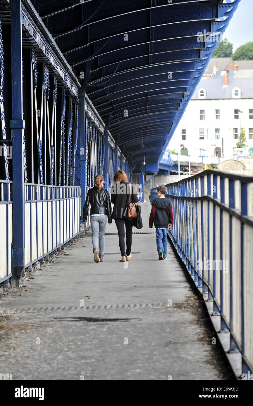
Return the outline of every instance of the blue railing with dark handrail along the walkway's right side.
[[[166,185],[169,236],[203,296],[213,301],[230,351],[253,372],[253,177],[207,170]],[[151,190],[151,200],[156,189]]]

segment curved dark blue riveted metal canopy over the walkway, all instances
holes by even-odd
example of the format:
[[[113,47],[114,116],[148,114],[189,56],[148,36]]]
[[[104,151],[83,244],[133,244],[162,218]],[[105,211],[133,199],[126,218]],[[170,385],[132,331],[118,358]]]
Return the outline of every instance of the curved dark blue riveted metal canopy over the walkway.
[[[138,163],[143,155],[146,162],[162,157],[218,45],[205,48],[198,32],[214,24],[225,30],[239,2],[36,0],[33,6],[22,0],[22,5],[32,16],[39,14],[40,29],[49,31],[81,93],[128,162]]]

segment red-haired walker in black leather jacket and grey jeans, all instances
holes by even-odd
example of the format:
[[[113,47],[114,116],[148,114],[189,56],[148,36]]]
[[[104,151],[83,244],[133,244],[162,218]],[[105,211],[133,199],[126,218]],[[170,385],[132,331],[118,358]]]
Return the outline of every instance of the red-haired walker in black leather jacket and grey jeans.
[[[92,245],[95,262],[104,262],[105,227],[111,224],[111,200],[109,191],[103,187],[104,178],[96,175],[95,186],[89,189],[83,206],[83,221],[87,221],[90,203],[90,225],[92,227]],[[99,240],[99,254],[98,254]]]

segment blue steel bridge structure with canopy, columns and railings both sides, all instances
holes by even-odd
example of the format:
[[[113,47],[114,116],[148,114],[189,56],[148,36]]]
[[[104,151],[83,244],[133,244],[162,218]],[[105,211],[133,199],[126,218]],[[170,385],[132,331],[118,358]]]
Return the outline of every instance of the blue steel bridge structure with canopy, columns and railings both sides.
[[[144,170],[169,173],[166,147],[218,45],[200,33],[215,39],[224,32],[239,2],[0,1],[2,285],[19,285],[26,270],[79,236],[94,175],[110,188],[120,168],[142,185]],[[168,195],[172,242],[247,370],[252,180],[207,171],[170,186]],[[228,257],[225,282],[222,272],[197,269],[208,255]]]

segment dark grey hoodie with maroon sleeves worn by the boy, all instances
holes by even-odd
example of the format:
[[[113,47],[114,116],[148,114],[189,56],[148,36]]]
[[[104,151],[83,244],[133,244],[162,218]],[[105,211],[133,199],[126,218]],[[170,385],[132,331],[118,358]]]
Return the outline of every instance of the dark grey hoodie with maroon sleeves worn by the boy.
[[[172,205],[168,199],[162,199],[157,197],[152,202],[151,213],[149,216],[149,227],[168,227],[171,224],[173,228],[173,210]]]

